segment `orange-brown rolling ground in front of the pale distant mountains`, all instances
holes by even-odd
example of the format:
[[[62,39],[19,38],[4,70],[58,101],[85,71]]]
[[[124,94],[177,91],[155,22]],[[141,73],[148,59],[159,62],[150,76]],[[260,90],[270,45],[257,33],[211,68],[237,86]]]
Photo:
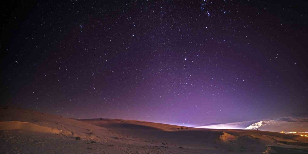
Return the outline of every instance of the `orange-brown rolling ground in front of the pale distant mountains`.
[[[307,153],[308,137],[136,120],[69,119],[1,107],[0,153]],[[76,140],[80,137],[80,140]]]

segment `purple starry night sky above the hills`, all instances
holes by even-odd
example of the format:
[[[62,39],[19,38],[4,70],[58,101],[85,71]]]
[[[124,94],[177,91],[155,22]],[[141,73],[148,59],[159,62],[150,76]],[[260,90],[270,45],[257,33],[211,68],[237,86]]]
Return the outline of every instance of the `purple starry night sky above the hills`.
[[[305,1],[10,1],[1,105],[201,125],[307,111]]]

